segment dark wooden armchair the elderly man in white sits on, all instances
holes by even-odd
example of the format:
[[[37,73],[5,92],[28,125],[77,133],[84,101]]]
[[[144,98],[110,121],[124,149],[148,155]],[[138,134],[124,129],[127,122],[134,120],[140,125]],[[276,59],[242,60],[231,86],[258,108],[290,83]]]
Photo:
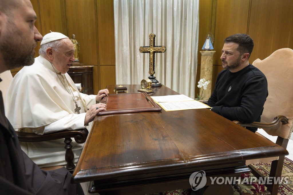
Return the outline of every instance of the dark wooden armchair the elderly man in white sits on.
[[[2,91],[2,96],[4,99],[6,96],[8,86],[12,80],[11,72],[5,71],[1,73],[1,79],[3,81],[0,83],[0,89]],[[72,151],[73,146],[71,144],[71,141],[72,141],[71,138],[74,138],[74,140],[77,143],[84,143],[86,141],[86,137],[88,136],[88,130],[87,129],[63,130],[63,131],[57,131],[54,133],[44,134],[44,135],[16,131],[16,135],[19,141],[24,141],[24,142],[40,142],[40,141],[50,141],[50,140],[65,138],[64,140],[64,143],[65,143],[64,148],[66,149],[65,161],[67,163],[65,167],[67,170],[72,172],[75,168],[75,165],[73,163],[74,153]],[[59,167],[60,166],[47,167],[46,170],[54,170]]]

